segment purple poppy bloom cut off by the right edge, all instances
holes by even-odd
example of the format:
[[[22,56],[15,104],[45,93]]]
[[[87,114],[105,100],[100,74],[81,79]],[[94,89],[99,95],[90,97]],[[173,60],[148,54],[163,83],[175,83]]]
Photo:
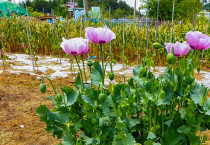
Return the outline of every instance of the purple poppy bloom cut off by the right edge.
[[[186,37],[192,49],[206,50],[210,48],[210,37],[199,31],[190,31],[186,34]]]

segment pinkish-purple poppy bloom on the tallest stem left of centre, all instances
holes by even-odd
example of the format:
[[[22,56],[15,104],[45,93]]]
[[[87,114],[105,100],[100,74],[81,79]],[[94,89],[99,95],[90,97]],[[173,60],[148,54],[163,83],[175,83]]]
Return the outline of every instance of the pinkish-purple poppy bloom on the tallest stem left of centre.
[[[92,28],[85,29],[85,37],[92,43],[105,44],[112,39],[116,39],[116,35],[109,28]]]

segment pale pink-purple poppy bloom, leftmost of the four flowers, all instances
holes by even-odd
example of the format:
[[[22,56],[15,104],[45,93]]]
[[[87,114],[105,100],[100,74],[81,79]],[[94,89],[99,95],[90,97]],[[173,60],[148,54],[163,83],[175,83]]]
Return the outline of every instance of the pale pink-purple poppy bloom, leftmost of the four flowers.
[[[89,51],[88,40],[83,38],[65,39],[62,38],[61,48],[70,55],[87,54]]]

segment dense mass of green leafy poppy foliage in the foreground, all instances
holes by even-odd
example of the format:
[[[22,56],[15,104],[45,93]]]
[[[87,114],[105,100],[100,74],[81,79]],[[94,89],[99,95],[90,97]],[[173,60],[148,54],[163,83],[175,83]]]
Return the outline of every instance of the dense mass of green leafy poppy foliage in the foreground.
[[[210,129],[210,99],[208,88],[186,81],[193,77],[193,61],[168,64],[155,78],[150,58],[143,60],[128,83],[110,83],[111,88],[103,90],[102,69],[96,61],[91,71],[94,87],[81,82],[78,74],[76,89],[61,87],[56,98],[48,97],[52,110],[45,105],[37,108],[46,130],[62,138],[64,145],[201,145],[197,132]]]

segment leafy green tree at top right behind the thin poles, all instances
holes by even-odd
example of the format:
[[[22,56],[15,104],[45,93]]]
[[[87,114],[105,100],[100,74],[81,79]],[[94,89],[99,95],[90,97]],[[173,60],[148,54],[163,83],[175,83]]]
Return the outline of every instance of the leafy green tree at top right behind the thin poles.
[[[144,0],[146,2],[146,0]],[[157,0],[149,2],[149,16],[156,18],[157,16]],[[160,0],[159,19],[171,20],[172,18],[173,0]],[[200,0],[175,0],[174,19],[176,20],[192,20],[193,13],[198,14],[202,9]]]

